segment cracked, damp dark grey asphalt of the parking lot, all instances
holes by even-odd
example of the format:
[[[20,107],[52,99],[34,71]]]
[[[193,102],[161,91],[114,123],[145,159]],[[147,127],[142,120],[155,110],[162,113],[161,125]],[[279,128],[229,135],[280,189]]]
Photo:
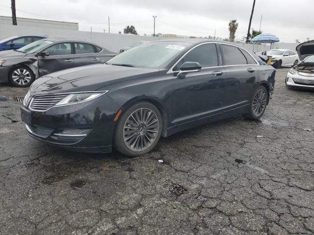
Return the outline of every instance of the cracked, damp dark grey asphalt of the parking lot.
[[[14,100],[27,89],[0,84],[0,234],[314,235],[314,92],[288,90],[287,71],[260,121],[193,128],[137,158],[31,139]]]

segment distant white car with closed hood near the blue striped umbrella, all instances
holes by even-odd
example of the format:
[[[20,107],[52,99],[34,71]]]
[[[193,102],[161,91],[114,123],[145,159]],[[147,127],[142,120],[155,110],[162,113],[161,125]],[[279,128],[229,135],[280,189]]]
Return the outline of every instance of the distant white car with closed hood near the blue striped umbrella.
[[[279,69],[282,66],[295,66],[299,62],[297,53],[288,49],[268,50],[266,55],[271,56],[271,65],[275,69]]]

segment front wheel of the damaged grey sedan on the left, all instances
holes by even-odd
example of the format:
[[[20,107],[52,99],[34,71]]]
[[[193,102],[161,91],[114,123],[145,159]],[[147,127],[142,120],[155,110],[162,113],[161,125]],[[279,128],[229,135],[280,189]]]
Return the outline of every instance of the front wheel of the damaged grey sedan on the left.
[[[34,79],[33,72],[26,66],[15,66],[9,72],[9,82],[15,87],[28,87]]]

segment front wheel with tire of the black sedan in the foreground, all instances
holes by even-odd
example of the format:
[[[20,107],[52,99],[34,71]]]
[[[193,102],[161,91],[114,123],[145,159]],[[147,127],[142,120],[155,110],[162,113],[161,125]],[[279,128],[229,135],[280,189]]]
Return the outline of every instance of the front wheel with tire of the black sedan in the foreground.
[[[162,131],[162,118],[149,102],[132,105],[119,117],[113,144],[121,153],[135,157],[151,151]]]

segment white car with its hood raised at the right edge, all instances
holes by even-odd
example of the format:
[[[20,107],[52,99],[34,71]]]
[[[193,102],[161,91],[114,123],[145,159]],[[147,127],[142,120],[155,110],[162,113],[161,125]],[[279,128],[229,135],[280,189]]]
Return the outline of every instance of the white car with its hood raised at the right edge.
[[[314,40],[296,47],[301,63],[288,71],[286,85],[314,89]]]

